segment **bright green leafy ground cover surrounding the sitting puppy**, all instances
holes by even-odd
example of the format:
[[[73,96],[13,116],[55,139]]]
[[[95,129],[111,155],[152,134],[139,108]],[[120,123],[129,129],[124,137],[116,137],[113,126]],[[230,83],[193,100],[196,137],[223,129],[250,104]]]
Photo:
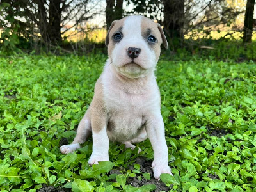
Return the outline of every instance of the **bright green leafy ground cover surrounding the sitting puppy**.
[[[106,56],[0,58],[1,191],[256,191],[256,64],[159,61],[169,163],[152,177],[150,141],[137,154],[111,143],[88,165],[92,138],[63,155]]]

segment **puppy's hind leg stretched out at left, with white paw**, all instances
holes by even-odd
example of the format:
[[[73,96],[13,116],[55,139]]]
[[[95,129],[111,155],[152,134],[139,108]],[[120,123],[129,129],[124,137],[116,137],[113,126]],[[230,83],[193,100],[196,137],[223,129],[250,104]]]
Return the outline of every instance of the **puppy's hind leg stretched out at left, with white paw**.
[[[90,133],[92,132],[91,120],[90,120],[90,108],[86,111],[83,119],[80,121],[76,137],[70,145],[62,145],[60,151],[62,154],[69,154],[74,152],[77,148],[81,148],[80,144],[83,144]]]

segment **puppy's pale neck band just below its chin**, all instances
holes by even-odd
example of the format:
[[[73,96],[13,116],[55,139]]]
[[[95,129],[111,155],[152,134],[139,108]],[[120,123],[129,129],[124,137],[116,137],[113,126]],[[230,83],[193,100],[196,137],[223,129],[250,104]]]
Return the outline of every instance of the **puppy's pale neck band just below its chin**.
[[[115,67],[109,63],[109,65],[105,66],[104,72],[104,75],[108,76],[106,81],[109,81],[111,86],[115,86],[129,94],[142,95],[147,93],[152,88],[152,84],[156,82],[154,70],[149,72],[145,77],[129,78],[117,72]]]

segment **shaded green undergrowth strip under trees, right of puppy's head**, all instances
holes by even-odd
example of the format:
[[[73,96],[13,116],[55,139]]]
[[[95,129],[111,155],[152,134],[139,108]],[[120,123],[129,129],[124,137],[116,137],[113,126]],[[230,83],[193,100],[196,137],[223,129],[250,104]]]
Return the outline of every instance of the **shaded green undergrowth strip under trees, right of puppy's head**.
[[[163,51],[165,52],[165,51]],[[170,56],[166,51],[166,59],[173,60],[173,55]],[[191,60],[192,56],[200,58],[211,58],[211,60],[218,61],[256,61],[256,41],[250,44],[243,44],[241,40],[227,40],[227,39],[198,39],[184,40],[184,47],[178,48],[174,57],[179,61]]]

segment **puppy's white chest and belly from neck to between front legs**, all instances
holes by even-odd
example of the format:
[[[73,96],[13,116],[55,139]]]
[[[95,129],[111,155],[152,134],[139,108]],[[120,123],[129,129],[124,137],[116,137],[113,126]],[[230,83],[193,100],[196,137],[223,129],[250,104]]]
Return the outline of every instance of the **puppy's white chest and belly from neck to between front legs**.
[[[111,72],[106,69],[102,75],[108,137],[112,141],[128,141],[140,134],[148,111],[160,109],[156,79],[152,74],[152,79],[147,79],[147,82],[138,80],[131,83],[109,74]]]

